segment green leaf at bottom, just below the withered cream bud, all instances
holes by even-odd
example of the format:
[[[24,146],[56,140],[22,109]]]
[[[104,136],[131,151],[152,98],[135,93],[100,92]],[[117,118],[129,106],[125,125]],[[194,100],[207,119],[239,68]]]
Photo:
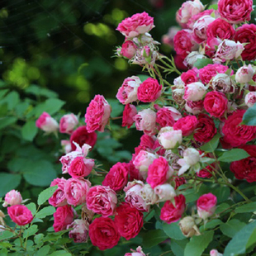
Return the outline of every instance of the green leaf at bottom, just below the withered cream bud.
[[[207,231],[202,235],[193,236],[187,243],[184,256],[201,256],[204,250],[210,244],[214,231]]]

